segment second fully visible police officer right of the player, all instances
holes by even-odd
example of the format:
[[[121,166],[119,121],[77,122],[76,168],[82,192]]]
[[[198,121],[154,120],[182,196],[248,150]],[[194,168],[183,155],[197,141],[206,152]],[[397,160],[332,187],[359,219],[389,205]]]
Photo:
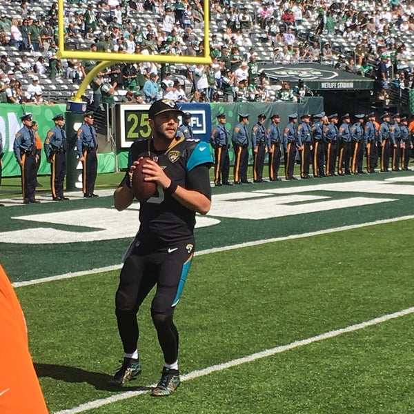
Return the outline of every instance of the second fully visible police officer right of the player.
[[[248,124],[249,114],[239,114],[239,124],[233,128],[231,142],[235,152],[234,179],[235,184],[250,184],[247,181],[247,165],[248,165],[248,132],[246,125]]]

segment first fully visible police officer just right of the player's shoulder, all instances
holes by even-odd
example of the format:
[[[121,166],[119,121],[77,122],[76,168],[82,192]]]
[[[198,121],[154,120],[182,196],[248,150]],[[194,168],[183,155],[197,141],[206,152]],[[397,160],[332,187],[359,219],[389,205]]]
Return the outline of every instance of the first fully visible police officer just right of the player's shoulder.
[[[230,158],[228,157],[230,131],[226,126],[226,114],[224,112],[219,113],[217,121],[219,124],[213,128],[211,133],[211,145],[215,153],[214,185],[216,187],[221,187],[223,184],[231,186],[228,181],[228,172],[230,170]]]

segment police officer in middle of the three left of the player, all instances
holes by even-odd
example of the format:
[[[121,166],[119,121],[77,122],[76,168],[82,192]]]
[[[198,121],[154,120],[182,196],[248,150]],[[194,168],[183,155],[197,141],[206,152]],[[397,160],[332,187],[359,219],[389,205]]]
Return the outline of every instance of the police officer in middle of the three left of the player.
[[[63,195],[63,181],[66,176],[66,150],[68,148],[64,128],[65,117],[63,114],[59,114],[52,119],[55,121],[55,126],[48,131],[43,148],[46,159],[50,162],[50,189],[53,201],[64,201],[68,200]]]

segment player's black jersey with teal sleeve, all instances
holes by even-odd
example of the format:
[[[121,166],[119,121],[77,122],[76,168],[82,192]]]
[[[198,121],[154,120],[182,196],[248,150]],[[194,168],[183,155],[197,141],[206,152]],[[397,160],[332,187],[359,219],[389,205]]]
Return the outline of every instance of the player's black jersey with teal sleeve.
[[[213,166],[213,159],[206,142],[199,139],[187,141],[181,137],[168,150],[157,151],[152,140],[139,139],[130,148],[128,171],[133,161],[141,156],[148,156],[148,151],[151,155],[157,156],[157,164],[164,169],[172,181],[211,199],[208,168]],[[129,179],[127,172],[121,185]],[[154,197],[141,203],[139,221],[141,225],[138,239],[146,239],[158,245],[169,245],[171,242],[185,240],[193,235],[195,211],[186,208],[172,195],[158,187]]]

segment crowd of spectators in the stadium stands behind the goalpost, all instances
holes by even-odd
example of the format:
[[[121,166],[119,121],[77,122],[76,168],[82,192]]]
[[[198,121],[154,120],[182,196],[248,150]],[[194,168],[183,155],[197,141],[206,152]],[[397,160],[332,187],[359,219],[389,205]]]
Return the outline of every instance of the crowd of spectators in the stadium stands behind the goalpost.
[[[201,0],[66,0],[65,48],[204,56]],[[414,4],[399,0],[210,0],[211,64],[117,63],[93,79],[94,109],[115,101],[295,101],[262,63],[323,63],[413,86]],[[75,95],[97,61],[57,59],[57,3],[10,1],[0,16],[0,101],[52,103]],[[287,88],[287,92],[286,92]],[[47,94],[45,93],[47,92]],[[57,91],[57,92],[56,92]],[[54,93],[56,92],[56,93]]]

